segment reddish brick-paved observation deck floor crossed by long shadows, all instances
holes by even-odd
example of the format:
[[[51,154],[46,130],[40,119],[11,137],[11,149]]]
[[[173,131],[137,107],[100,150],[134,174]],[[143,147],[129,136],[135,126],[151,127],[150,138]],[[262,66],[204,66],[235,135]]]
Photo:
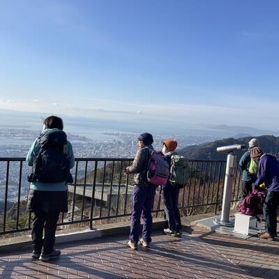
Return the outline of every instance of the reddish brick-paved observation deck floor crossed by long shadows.
[[[154,232],[151,248],[130,250],[128,236],[59,244],[59,259],[30,250],[0,256],[0,278],[278,278],[279,241],[236,239],[194,226],[182,237]]]

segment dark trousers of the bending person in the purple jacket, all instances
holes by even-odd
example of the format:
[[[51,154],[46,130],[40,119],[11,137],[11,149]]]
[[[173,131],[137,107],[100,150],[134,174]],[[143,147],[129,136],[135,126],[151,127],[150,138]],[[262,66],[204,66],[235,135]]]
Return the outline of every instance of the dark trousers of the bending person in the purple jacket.
[[[279,206],[279,192],[269,192],[264,200],[264,216],[266,218],[266,232],[277,235],[277,214]]]

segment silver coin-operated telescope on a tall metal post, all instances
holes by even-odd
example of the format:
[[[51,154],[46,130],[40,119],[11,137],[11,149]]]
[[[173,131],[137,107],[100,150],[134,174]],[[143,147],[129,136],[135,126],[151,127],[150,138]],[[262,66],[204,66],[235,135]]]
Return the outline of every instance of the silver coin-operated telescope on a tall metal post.
[[[217,152],[227,153],[227,165],[224,181],[223,204],[220,218],[216,218],[214,223],[226,227],[233,227],[234,223],[229,220],[229,211],[232,200],[232,184],[234,182],[234,170],[236,169],[236,155],[234,151],[246,149],[244,144],[232,144],[227,146],[220,146]]]

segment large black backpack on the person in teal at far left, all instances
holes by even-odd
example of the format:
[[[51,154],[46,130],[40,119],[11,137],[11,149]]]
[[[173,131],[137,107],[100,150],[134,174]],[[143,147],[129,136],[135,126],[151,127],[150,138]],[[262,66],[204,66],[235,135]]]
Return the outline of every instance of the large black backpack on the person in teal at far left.
[[[73,183],[67,156],[67,135],[63,130],[47,130],[38,137],[40,150],[33,160],[29,182]]]

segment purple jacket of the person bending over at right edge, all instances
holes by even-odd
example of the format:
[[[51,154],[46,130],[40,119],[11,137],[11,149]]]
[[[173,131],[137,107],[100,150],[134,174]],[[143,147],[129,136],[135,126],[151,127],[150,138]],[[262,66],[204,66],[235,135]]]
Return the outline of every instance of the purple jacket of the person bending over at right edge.
[[[259,186],[262,183],[265,183],[269,192],[279,191],[279,163],[270,154],[264,154],[259,160],[259,170],[255,186]]]

